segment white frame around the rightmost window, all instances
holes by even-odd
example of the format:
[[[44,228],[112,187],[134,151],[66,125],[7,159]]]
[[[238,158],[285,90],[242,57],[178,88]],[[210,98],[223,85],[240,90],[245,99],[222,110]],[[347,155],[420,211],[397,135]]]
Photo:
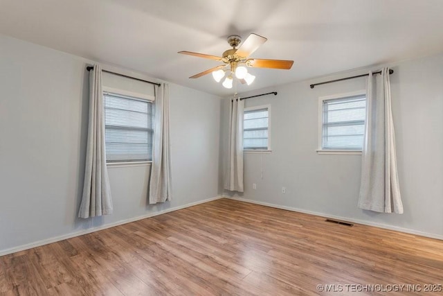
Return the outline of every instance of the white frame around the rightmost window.
[[[318,154],[324,155],[361,155],[361,149],[323,149],[323,102],[338,98],[349,98],[352,96],[366,96],[366,90],[361,89],[356,92],[333,94],[330,96],[320,96],[318,98]],[[366,97],[366,99],[368,99]],[[366,110],[368,112],[368,110]],[[366,125],[366,122],[365,122]]]

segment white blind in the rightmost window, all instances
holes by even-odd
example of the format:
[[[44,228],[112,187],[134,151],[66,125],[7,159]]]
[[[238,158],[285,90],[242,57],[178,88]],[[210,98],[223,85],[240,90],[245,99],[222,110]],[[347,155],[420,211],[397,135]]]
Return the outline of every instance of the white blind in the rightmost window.
[[[365,134],[366,96],[323,101],[322,149],[361,150]]]

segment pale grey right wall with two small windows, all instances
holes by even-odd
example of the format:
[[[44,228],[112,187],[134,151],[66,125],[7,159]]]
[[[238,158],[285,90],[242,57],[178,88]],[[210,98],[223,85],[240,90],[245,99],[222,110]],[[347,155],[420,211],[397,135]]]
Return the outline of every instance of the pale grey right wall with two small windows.
[[[391,66],[395,70],[390,76],[392,112],[404,214],[377,214],[356,207],[361,155],[316,153],[318,97],[365,89],[365,78],[314,89],[309,85],[366,70],[244,94],[278,92],[278,96],[246,100],[246,107],[271,104],[273,151],[244,153],[245,192],[239,197],[443,238],[443,54]],[[297,71],[296,65],[291,71]],[[228,100],[224,100],[222,118],[227,117],[227,106]],[[221,139],[226,139],[228,125],[224,122],[222,126]],[[253,183],[257,183],[256,190]],[[282,186],[287,188],[286,194],[282,194]]]

